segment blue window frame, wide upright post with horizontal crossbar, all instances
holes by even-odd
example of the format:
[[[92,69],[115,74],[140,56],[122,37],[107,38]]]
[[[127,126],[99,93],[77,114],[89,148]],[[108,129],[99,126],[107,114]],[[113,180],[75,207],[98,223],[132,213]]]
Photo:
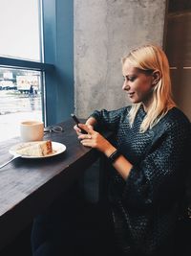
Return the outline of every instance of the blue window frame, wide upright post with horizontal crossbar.
[[[0,57],[0,66],[42,72],[43,120],[50,126],[74,112],[74,1],[40,0],[39,4],[41,61]]]

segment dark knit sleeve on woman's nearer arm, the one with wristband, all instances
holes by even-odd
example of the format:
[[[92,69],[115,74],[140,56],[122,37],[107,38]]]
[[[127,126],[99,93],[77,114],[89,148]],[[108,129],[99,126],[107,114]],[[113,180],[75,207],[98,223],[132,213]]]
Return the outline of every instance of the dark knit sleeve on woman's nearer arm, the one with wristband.
[[[123,191],[123,203],[144,208],[167,206],[180,194],[191,148],[190,124],[163,124],[150,151],[132,168]]]

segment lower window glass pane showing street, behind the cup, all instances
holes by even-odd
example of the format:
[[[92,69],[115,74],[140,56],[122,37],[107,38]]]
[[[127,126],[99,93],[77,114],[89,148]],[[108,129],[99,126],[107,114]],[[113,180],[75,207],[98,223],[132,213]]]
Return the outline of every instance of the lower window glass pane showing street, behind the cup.
[[[42,74],[0,67],[0,141],[19,136],[19,124],[42,121]]]

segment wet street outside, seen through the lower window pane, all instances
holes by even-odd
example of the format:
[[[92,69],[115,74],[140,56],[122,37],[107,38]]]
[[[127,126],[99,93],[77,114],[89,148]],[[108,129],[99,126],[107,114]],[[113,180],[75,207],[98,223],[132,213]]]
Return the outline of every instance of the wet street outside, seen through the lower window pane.
[[[19,124],[26,120],[42,120],[41,95],[0,90],[0,141],[19,136]]]

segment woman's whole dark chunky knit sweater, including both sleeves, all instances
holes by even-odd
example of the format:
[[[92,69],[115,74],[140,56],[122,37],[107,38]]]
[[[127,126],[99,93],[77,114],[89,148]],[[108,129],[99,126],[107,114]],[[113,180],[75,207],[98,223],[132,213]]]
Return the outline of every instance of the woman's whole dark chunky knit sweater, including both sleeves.
[[[113,168],[109,176],[111,202],[118,241],[138,252],[153,254],[170,244],[178,218],[180,195],[191,148],[190,123],[174,107],[151,129],[140,133],[143,107],[130,128],[131,106],[114,111],[95,111],[98,128],[115,134],[114,145],[133,164],[122,179]]]

